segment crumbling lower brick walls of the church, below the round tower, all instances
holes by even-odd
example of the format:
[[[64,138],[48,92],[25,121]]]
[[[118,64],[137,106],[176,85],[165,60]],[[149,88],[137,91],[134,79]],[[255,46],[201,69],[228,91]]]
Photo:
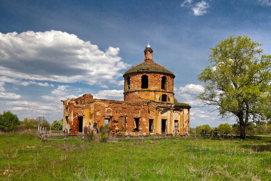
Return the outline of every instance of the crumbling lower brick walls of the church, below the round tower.
[[[144,93],[144,92],[143,92]],[[77,99],[70,99],[64,102],[64,112],[63,116],[69,116],[69,133],[78,134],[79,121],[78,116],[83,116],[83,125],[85,133],[88,131],[89,127],[93,125],[104,126],[104,119],[110,118],[109,129],[112,134],[116,128],[116,134],[128,134],[130,129],[130,134],[143,134],[149,133],[149,119],[158,118],[155,116],[157,106],[160,107],[171,107],[172,104],[166,102],[127,102],[127,101],[115,101],[115,100],[105,100],[105,99],[92,99],[90,94],[85,94]],[[187,107],[187,108],[186,108]],[[184,106],[182,114],[183,132],[188,130],[189,122],[189,107]],[[161,108],[160,108],[161,109]],[[179,109],[175,109],[175,111]],[[150,112],[152,112],[150,114]],[[120,119],[121,117],[121,119]],[[125,122],[122,118],[125,118]],[[139,118],[139,131],[133,132],[135,128],[135,119]],[[156,121],[160,121],[160,118]],[[124,129],[120,132],[120,129]],[[159,128],[160,129],[160,128]],[[180,130],[180,131],[181,131]],[[95,132],[96,129],[93,129]],[[158,128],[156,132],[158,132]],[[181,132],[182,132],[181,131]]]

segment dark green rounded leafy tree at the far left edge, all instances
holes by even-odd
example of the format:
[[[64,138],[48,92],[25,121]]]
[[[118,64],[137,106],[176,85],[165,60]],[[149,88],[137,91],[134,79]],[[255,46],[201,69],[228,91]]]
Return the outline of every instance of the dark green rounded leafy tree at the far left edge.
[[[20,120],[17,115],[12,114],[11,111],[0,113],[0,130],[12,131],[18,125],[20,125]]]

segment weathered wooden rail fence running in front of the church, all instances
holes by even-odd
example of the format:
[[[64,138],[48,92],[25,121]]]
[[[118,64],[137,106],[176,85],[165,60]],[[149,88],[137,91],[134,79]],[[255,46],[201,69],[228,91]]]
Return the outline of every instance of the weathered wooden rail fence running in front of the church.
[[[155,131],[155,130],[154,130]],[[60,132],[62,134],[57,134],[56,132]],[[62,137],[64,136],[64,138],[52,138],[52,136],[58,136],[58,137]],[[76,138],[70,138],[72,136],[75,136]],[[47,131],[47,128],[43,128],[41,126],[38,126],[38,137],[42,140],[44,140],[45,142],[47,140],[81,140],[84,141],[86,140],[85,136],[87,136],[86,134],[84,134],[84,131],[82,134],[67,134],[67,130],[65,130],[65,133],[63,133],[63,131]],[[97,135],[93,135],[98,137],[99,134]],[[141,130],[141,134],[135,135],[135,134],[130,134],[130,129],[128,130],[128,134],[127,135],[120,135],[120,134],[116,134],[116,130],[114,132],[114,134],[110,134],[108,135],[112,140],[133,140],[133,139],[167,139],[167,138],[228,138],[229,136],[231,136],[231,138],[233,138],[232,134],[228,134],[223,132],[223,134],[192,134],[192,133],[185,133],[185,134],[180,134],[180,133],[176,133],[176,134],[147,134],[144,135],[143,134],[143,130]],[[78,138],[80,137],[80,138]]]

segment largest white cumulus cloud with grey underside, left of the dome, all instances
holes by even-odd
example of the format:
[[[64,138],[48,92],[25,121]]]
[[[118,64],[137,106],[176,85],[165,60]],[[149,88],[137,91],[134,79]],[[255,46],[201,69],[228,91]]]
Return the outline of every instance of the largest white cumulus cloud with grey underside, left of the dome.
[[[29,85],[29,81],[93,85],[116,80],[129,66],[121,61],[119,50],[109,46],[104,52],[62,31],[0,33],[0,81],[17,85]],[[47,84],[37,83],[53,87]]]

